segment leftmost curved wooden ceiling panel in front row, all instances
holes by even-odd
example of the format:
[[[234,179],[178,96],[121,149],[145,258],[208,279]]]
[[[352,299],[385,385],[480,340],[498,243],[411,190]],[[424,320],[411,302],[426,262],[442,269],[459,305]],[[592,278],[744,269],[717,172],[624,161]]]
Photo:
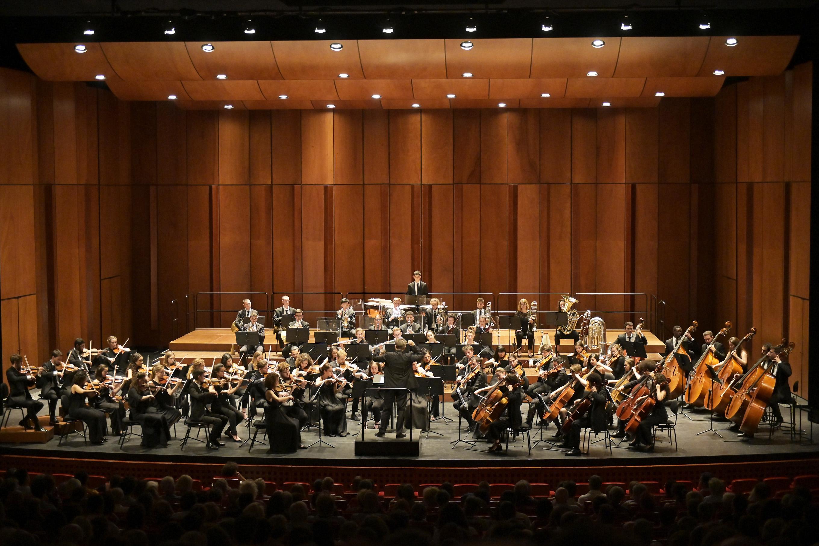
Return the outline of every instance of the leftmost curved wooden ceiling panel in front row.
[[[97,74],[106,80],[120,76],[108,63],[99,43],[84,43],[84,53],[74,51],[76,43],[18,43],[17,50],[29,68],[49,82],[94,81]]]

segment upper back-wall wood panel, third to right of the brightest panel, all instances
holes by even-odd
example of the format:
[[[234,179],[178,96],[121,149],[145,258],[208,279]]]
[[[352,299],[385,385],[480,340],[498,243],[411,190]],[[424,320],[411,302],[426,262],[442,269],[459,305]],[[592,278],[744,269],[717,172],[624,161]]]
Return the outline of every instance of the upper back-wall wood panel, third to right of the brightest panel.
[[[390,183],[421,182],[421,112],[390,112]]]

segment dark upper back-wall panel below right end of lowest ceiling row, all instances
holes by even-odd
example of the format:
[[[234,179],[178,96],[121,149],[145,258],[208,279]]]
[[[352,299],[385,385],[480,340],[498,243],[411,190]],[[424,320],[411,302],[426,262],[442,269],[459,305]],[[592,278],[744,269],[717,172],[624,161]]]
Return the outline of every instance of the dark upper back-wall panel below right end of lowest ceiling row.
[[[658,180],[658,113],[653,108],[626,111],[626,180]]]

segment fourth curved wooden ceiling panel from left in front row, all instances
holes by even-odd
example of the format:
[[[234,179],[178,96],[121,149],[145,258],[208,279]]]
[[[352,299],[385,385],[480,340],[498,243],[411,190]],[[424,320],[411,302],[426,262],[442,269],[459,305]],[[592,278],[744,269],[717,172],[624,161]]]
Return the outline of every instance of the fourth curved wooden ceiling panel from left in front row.
[[[330,49],[331,43],[334,41],[273,42],[278,70],[284,79],[334,79],[342,73],[350,74],[351,78],[364,78],[358,42],[338,40],[343,48],[337,52]]]

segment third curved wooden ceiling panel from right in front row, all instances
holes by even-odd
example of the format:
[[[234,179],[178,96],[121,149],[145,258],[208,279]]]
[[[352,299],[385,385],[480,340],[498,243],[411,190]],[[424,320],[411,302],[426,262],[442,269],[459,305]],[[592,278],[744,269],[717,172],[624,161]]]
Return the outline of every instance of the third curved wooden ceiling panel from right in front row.
[[[535,38],[531,78],[585,78],[595,70],[611,78],[617,66],[620,38],[600,38],[604,47],[591,47],[596,38]]]

